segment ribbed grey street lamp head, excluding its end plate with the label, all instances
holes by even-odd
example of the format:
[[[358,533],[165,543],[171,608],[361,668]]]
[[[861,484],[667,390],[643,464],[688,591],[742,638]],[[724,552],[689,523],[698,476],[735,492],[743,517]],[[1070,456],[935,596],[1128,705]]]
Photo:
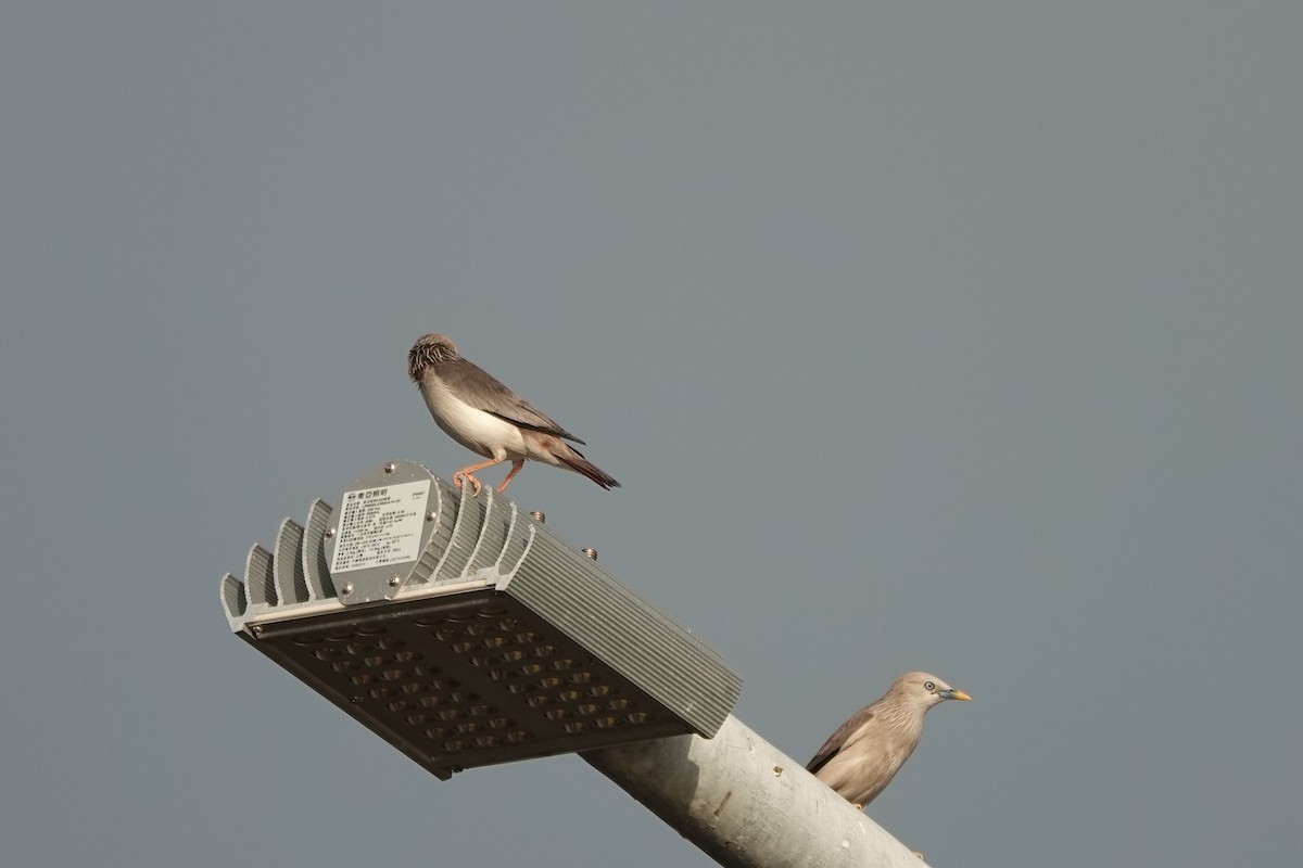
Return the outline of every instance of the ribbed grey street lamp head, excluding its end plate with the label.
[[[222,580],[233,632],[440,778],[477,765],[696,733],[741,679],[719,653],[485,488],[431,481],[434,523],[388,600],[347,605],[323,501]]]

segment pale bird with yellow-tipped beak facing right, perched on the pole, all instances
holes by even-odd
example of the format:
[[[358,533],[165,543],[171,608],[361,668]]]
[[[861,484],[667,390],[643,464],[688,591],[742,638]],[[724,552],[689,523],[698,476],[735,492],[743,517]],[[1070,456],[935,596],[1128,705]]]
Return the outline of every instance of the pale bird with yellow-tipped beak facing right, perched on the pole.
[[[923,716],[947,699],[971,696],[925,671],[906,673],[882,699],[838,726],[805,769],[863,808],[891,783],[919,746]]]

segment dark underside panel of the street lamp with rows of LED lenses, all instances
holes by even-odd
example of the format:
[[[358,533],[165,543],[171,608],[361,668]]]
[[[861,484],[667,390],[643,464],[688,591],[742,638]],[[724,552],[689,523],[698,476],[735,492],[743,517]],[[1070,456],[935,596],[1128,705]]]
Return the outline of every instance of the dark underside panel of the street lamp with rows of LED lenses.
[[[278,640],[345,700],[446,768],[683,731],[674,716],[523,606],[490,601]],[[344,703],[340,703],[344,704]]]

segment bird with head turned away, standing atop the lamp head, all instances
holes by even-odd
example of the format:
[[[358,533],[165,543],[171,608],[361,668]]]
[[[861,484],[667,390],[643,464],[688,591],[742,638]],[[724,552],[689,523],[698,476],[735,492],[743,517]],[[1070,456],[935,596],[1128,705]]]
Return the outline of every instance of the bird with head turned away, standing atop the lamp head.
[[[487,458],[453,474],[455,487],[461,488],[465,479],[478,497],[476,471],[509,461],[511,472],[498,487],[500,495],[526,458],[582,474],[605,489],[620,487],[610,474],[566,442],[585,445],[582,440],[483,368],[461,358],[457,345],[446,334],[422,334],[417,340],[408,353],[408,375],[443,432]]]

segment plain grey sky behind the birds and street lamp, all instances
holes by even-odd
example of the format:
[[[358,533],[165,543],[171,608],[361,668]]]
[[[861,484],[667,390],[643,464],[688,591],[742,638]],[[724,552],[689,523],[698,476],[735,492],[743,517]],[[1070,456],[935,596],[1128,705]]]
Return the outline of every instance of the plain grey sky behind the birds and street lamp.
[[[0,861],[709,860],[575,756],[440,782],[227,571],[474,457],[452,336],[623,483],[509,495],[934,865],[1295,861],[1303,5],[0,5]],[[496,481],[499,471],[486,471]]]

